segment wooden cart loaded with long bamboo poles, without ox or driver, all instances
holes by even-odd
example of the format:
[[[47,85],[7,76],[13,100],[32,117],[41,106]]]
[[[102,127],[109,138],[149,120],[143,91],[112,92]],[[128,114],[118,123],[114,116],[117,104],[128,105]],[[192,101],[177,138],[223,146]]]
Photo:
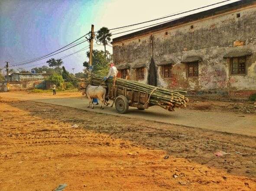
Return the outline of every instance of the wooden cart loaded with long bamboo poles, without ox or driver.
[[[175,107],[185,107],[188,102],[184,95],[186,91],[168,90],[137,81],[117,78],[114,85],[113,79],[104,81],[103,76],[93,74],[87,82],[107,88],[106,98],[113,100],[118,113],[127,113],[129,106],[144,110],[155,105],[174,111]]]

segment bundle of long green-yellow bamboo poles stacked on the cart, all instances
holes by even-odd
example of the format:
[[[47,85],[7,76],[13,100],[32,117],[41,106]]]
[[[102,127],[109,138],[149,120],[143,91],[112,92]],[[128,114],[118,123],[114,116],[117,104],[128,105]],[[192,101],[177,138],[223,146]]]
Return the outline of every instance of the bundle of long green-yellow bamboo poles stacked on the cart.
[[[100,75],[92,74],[86,81],[91,85],[113,87],[113,79],[104,81],[104,76]],[[186,107],[186,103],[188,102],[188,98],[185,97],[186,91],[168,90],[122,78],[116,79],[116,87],[120,89],[127,88],[127,90],[130,89],[140,93],[148,93],[150,95],[149,106],[158,105],[169,111],[174,111],[175,107]]]

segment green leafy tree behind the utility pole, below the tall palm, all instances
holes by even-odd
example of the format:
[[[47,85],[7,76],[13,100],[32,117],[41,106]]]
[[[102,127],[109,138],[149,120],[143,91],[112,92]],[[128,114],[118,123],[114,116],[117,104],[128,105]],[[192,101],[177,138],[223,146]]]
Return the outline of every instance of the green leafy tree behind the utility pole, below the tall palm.
[[[90,57],[90,52],[87,51],[87,57]],[[112,62],[112,54],[106,50],[106,59],[105,53],[103,50],[93,50],[92,51],[92,60],[93,60],[93,69],[92,72],[98,75],[107,75],[109,69],[109,63]],[[83,66],[87,69],[89,68],[89,63],[86,61],[83,63]]]

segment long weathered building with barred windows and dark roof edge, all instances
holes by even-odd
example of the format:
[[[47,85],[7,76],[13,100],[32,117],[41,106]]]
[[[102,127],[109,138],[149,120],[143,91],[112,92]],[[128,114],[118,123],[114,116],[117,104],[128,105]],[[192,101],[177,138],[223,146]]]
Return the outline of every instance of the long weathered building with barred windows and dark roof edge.
[[[256,92],[256,0],[241,0],[113,39],[131,79],[196,95]]]

